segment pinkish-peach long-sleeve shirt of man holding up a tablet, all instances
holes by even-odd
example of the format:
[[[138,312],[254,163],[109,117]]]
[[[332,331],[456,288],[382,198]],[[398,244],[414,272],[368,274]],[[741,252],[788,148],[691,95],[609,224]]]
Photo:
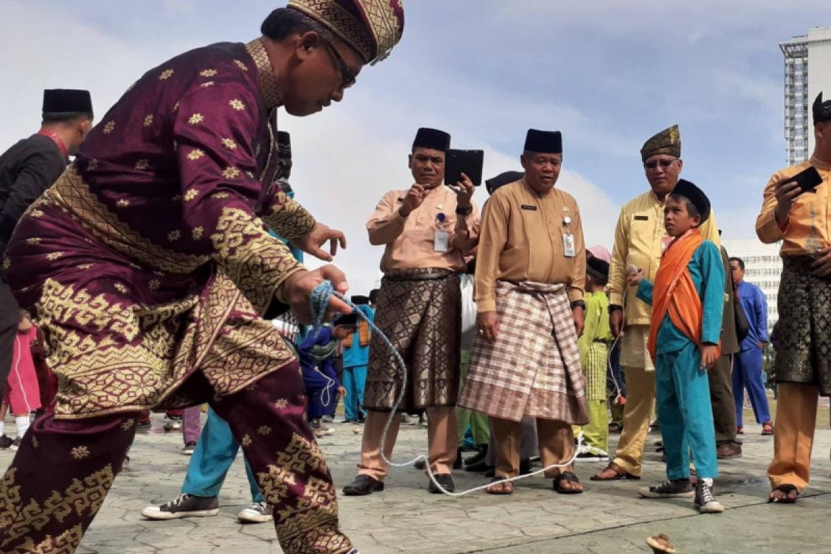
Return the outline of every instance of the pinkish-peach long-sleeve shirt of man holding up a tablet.
[[[402,218],[399,209],[407,190],[391,190],[384,194],[366,222],[369,242],[386,246],[381,257],[381,271],[420,268],[463,271],[464,253],[475,246],[478,234],[479,210],[476,204],[473,203],[470,215],[456,214],[456,194],[442,185],[430,190],[424,202]],[[444,223],[439,223],[439,213],[445,214]],[[467,233],[457,233],[460,229],[466,229]],[[450,234],[447,252],[435,251],[435,232],[438,230]]]

